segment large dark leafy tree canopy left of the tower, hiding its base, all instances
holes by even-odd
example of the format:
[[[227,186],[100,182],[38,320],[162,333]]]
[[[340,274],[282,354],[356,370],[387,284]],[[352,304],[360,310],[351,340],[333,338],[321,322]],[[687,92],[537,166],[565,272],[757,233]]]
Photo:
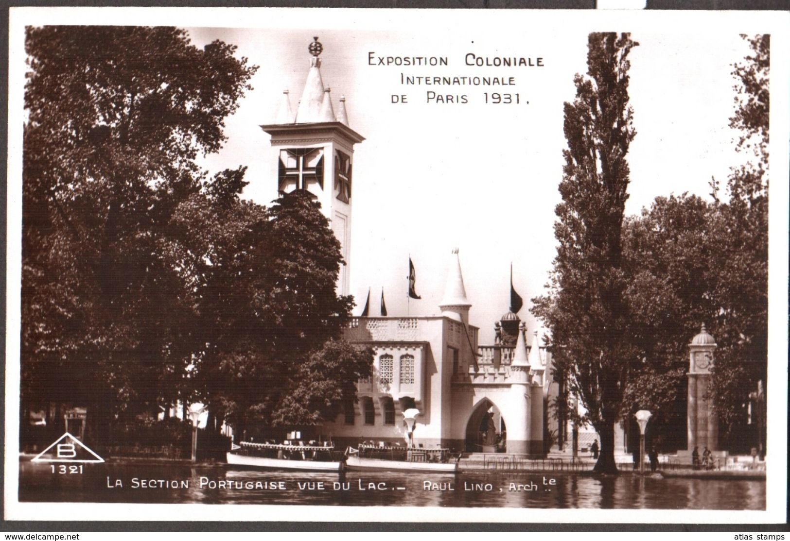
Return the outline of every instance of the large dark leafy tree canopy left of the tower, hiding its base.
[[[23,403],[337,411],[372,359],[337,341],[352,299],[318,203],[240,200],[245,167],[196,162],[256,68],[177,28],[28,28],[26,46]]]

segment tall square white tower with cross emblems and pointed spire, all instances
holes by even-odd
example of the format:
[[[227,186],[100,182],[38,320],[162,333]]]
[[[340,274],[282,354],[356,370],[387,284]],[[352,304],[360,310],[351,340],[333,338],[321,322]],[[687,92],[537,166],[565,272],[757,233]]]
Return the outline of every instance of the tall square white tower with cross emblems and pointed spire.
[[[276,149],[277,191],[306,190],[321,203],[345,261],[337,278],[337,294],[348,295],[354,144],[365,138],[348,126],[345,98],[340,98],[335,114],[331,90],[321,77],[323,49],[318,37],[307,47],[310,69],[296,113],[286,90],[276,124],[261,125],[261,129],[272,137]]]

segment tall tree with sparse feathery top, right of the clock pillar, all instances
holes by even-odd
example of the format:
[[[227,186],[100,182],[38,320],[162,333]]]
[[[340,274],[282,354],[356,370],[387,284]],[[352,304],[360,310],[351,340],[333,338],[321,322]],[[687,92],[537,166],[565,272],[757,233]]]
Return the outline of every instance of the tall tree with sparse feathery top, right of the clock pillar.
[[[768,170],[770,35],[748,39],[752,54],[734,65],[736,151],[747,162],[732,168],[729,199],[716,202],[711,226],[717,340],[713,386],[725,431],[747,422],[743,403],[766,381],[768,362]],[[754,445],[754,441],[751,442]]]

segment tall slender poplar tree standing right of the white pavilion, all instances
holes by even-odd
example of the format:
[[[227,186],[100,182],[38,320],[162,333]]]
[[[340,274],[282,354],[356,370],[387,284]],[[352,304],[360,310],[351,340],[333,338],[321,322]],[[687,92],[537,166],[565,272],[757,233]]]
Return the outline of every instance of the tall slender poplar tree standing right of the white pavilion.
[[[587,76],[565,104],[565,166],[556,207],[559,241],[551,293],[534,312],[551,329],[557,368],[581,398],[601,436],[596,472],[616,472],[614,424],[623,390],[638,363],[624,300],[623,213],[635,131],[628,106],[627,59],[638,43],[623,33],[589,35]]]

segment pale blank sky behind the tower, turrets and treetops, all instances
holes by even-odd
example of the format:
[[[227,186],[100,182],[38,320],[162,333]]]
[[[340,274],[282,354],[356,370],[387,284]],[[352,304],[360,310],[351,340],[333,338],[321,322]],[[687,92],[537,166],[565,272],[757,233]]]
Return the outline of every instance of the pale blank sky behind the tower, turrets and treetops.
[[[261,23],[261,21],[258,21]],[[630,28],[623,28],[629,30]],[[389,315],[437,315],[446,269],[459,248],[470,323],[491,343],[493,324],[507,312],[513,285],[525,299],[519,315],[530,330],[540,322],[529,299],[544,294],[556,242],[560,202],[562,106],[574,98],[574,74],[586,72],[589,32],[534,28],[525,35],[453,28],[375,32],[310,28],[188,28],[198,45],[222,39],[258,65],[238,112],[227,121],[228,142],[209,156],[209,170],[248,166],[244,197],[276,197],[276,152],[260,125],[274,123],[285,89],[296,108],[307,77],[307,46],[318,35],[322,78],[337,110],[346,98],[355,145],[351,287],[361,312],[368,287],[371,315],[383,289]],[[735,154],[732,63],[748,54],[737,32],[632,32],[630,104],[638,134],[630,146],[627,214],[656,196],[709,197],[709,181],[726,184]],[[562,43],[562,47],[557,47]],[[445,57],[448,65],[371,65],[379,56]],[[542,67],[466,65],[479,57],[543,58]],[[376,62],[376,61],[374,61]],[[528,60],[529,62],[529,60]],[[500,76],[514,85],[404,86],[411,76]],[[466,95],[468,103],[427,103],[427,91]],[[518,104],[484,103],[485,92],[509,92]],[[407,95],[408,103],[392,103]],[[489,99],[492,99],[489,97]],[[458,101],[457,98],[453,101]],[[529,102],[529,103],[526,103]],[[408,258],[421,300],[407,301]]]

